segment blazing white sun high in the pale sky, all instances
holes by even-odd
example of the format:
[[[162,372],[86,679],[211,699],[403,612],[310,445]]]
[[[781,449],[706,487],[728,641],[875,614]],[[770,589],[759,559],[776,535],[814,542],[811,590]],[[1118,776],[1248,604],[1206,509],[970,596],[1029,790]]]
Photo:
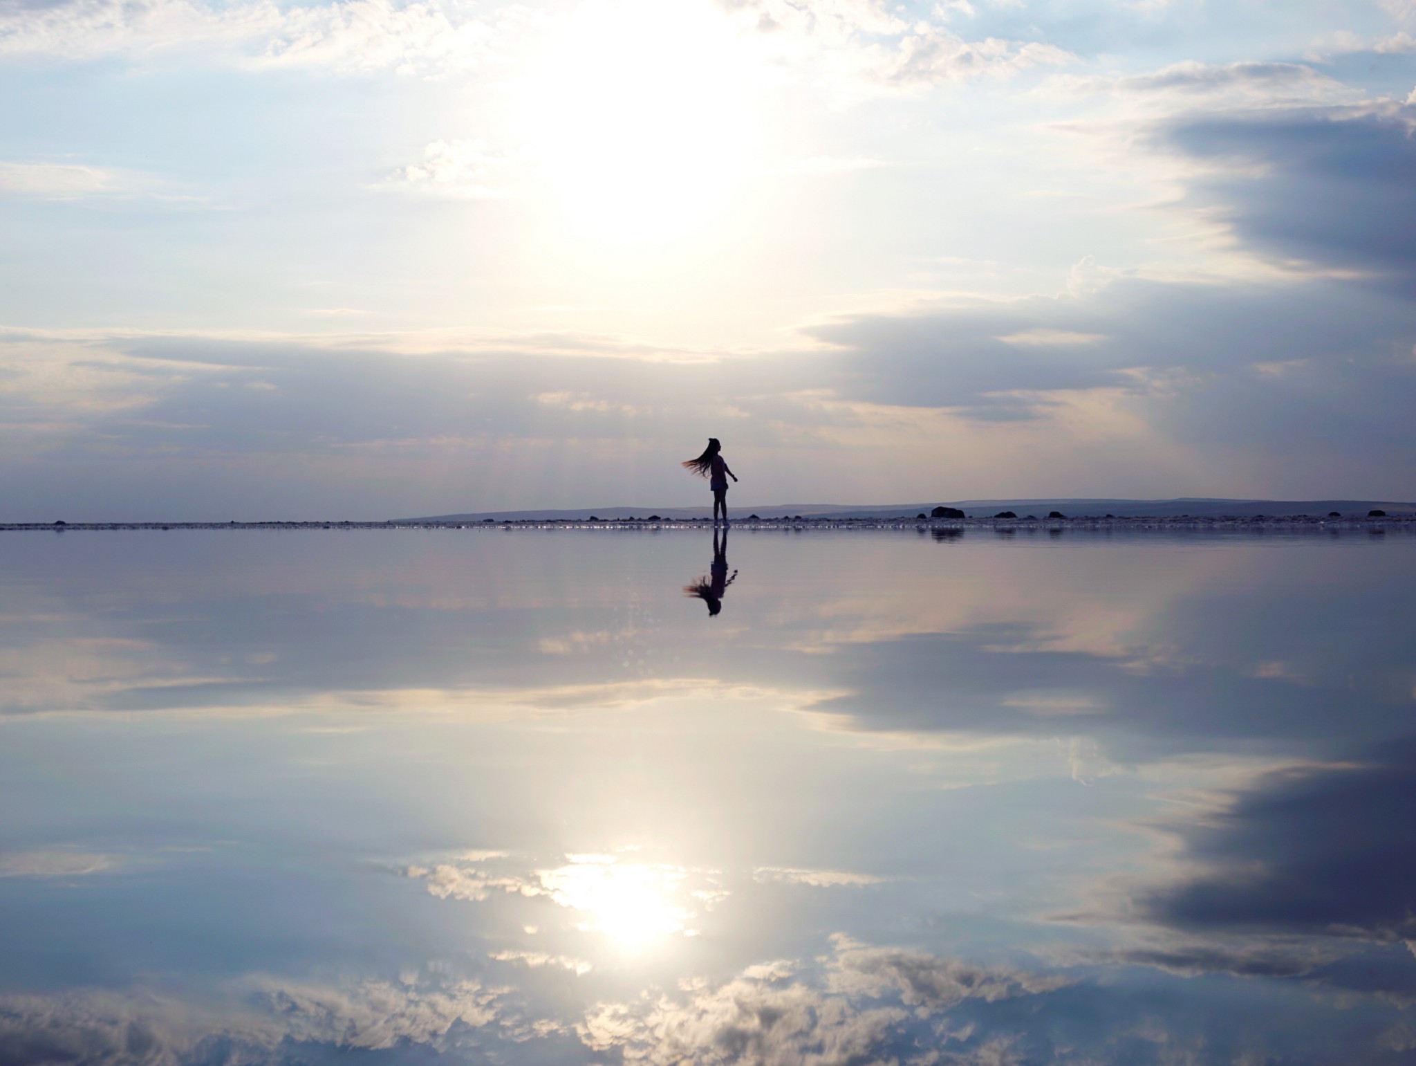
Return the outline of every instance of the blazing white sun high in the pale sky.
[[[565,221],[612,242],[711,227],[748,177],[750,72],[701,0],[586,0],[532,60],[521,135]]]

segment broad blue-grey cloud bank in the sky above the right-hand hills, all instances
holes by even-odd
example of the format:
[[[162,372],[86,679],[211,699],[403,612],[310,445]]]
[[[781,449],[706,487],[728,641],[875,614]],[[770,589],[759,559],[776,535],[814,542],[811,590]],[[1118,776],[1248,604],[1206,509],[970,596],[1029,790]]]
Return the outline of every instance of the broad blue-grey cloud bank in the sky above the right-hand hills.
[[[980,427],[1034,421],[1051,427],[1048,451],[1131,437],[1150,485],[1188,455],[1206,483],[1240,461],[1255,495],[1321,495],[1379,466],[1368,483],[1399,495],[1398,468],[1416,461],[1403,415],[1416,403],[1416,305],[1382,285],[1121,279],[1082,298],[858,315],[806,332],[840,350],[837,397],[943,408]],[[1000,339],[1020,335],[1038,343]],[[1058,343],[1066,335],[1099,339]],[[976,447],[1007,445],[986,439],[980,430]]]

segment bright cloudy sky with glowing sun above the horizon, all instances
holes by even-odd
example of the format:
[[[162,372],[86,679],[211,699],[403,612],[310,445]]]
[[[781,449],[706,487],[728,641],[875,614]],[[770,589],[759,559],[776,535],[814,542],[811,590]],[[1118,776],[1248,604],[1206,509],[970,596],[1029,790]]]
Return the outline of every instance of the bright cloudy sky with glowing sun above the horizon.
[[[1413,86],[1410,0],[0,0],[0,517],[1409,500]]]

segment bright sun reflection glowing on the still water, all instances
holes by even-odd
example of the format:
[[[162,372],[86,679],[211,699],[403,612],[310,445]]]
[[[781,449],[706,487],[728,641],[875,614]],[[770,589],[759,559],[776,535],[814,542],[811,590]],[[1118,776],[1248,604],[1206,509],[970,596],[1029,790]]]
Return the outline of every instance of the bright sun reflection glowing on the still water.
[[[544,890],[583,916],[581,928],[602,933],[624,951],[641,951],[671,934],[692,934],[692,911],[680,903],[687,872],[678,866],[622,863],[612,855],[571,855],[541,870]]]

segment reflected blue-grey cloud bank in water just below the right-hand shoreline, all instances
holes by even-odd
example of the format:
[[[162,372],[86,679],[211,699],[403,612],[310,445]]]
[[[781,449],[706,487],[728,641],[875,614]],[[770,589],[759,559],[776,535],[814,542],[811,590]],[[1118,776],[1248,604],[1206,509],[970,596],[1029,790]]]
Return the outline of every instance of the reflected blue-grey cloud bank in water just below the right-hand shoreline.
[[[1403,662],[1399,628],[1337,635],[1330,624],[1402,610],[1383,568],[1345,571],[1341,581],[1294,570],[1281,588],[1255,595],[1235,584],[1253,566],[1245,554],[1214,553],[1155,574],[1120,544],[1106,551],[1104,576],[1100,550],[1099,568],[1069,581],[1039,564],[1007,585],[970,587],[952,615],[902,611],[898,631],[857,631],[843,611],[835,627],[794,634],[817,652],[816,683],[838,693],[810,713],[824,727],[915,739],[1095,741],[1121,764],[1236,750],[1327,758],[1354,736],[1409,729],[1410,683],[1386,680]],[[1130,590],[1124,607],[1078,597],[1103,580]],[[1277,649],[1281,675],[1256,669]]]

